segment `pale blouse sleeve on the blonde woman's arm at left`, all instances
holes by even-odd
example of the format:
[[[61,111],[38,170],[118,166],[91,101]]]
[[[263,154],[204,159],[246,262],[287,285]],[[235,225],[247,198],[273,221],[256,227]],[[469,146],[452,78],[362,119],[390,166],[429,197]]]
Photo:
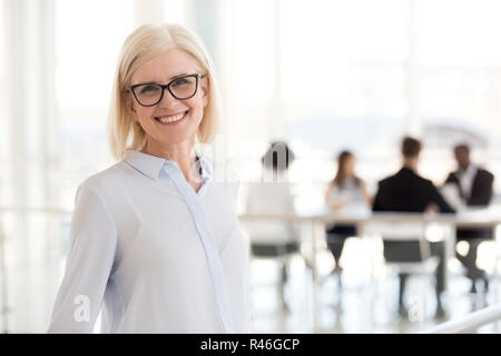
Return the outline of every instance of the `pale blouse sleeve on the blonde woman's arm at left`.
[[[76,198],[65,277],[49,333],[91,333],[115,260],[117,229],[98,191],[84,182]]]

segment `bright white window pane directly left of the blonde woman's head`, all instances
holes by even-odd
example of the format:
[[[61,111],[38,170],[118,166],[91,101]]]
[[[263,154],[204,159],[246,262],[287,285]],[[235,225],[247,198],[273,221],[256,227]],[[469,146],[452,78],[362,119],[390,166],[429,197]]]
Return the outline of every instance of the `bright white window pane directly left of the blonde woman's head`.
[[[131,30],[131,0],[56,1],[57,170],[70,206],[77,182],[112,161],[106,121],[118,53]]]

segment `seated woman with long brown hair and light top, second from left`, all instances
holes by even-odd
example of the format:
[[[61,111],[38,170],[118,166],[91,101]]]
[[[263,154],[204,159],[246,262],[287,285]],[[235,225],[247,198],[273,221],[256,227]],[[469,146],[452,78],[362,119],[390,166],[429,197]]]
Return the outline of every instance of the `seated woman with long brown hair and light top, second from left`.
[[[356,212],[371,206],[365,184],[355,175],[355,156],[350,151],[342,151],[337,156],[337,172],[327,186],[325,204],[334,212]],[[333,273],[340,276],[342,271],[340,258],[344,241],[351,236],[356,236],[356,227],[334,224],[326,227],[326,235],[327,247],[336,263]],[[338,280],[341,281],[341,278]]]

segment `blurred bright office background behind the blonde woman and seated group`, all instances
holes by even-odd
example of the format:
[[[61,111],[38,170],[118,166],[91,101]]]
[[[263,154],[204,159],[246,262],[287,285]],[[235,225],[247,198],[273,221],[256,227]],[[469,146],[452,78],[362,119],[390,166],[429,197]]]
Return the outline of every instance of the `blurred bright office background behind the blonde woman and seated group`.
[[[357,174],[374,192],[400,167],[406,134],[423,140],[420,171],[436,185],[455,168],[453,145],[468,141],[474,160],[498,177],[494,200],[501,190],[497,0],[0,0],[0,13],[2,306],[9,308],[2,327],[7,320],[9,332],[48,326],[76,188],[114,162],[106,120],[118,52],[144,22],[178,22],[205,41],[226,111],[210,149],[238,172],[243,195],[273,139],[296,154],[289,178],[297,209],[322,206],[341,149],[355,152]],[[498,247],[485,244],[479,260],[493,271]],[[360,240],[347,241],[342,307],[328,279],[332,258],[320,254],[315,330],[432,325],[394,318],[390,295],[369,307],[364,254]],[[313,332],[305,263],[291,268],[294,307],[285,312],[273,301],[268,264],[253,261],[253,330]],[[458,271],[451,314],[468,314],[468,283],[459,266],[451,268]]]

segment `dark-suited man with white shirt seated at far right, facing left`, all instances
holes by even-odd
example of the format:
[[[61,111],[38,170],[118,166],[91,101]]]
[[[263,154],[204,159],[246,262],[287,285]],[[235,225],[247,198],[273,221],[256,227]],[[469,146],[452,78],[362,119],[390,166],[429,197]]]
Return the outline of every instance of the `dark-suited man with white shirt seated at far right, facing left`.
[[[458,170],[451,172],[445,184],[456,187],[462,202],[469,207],[487,207],[492,198],[492,182],[494,176],[470,160],[470,147],[458,145],[454,147]],[[466,256],[456,254],[458,259],[466,267],[466,276],[471,279],[471,291],[477,293],[477,279],[482,279],[484,289],[489,289],[489,278],[483,269],[477,267],[477,250],[481,241],[493,238],[492,228],[458,229],[458,241],[469,243]]]

